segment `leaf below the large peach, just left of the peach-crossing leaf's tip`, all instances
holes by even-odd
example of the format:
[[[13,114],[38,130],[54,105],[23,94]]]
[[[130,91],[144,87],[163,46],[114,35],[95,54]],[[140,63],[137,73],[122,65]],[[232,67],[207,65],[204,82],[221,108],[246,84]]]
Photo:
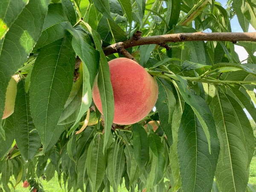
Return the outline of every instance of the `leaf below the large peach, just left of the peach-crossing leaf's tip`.
[[[105,175],[106,158],[103,154],[103,141],[100,134],[90,143],[86,159],[87,174],[92,191],[97,191]]]

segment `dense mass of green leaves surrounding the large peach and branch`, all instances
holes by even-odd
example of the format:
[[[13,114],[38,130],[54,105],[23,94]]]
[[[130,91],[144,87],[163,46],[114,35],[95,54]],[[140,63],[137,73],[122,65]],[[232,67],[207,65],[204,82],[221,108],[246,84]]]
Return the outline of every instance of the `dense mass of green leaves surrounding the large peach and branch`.
[[[15,111],[0,122],[1,187],[58,175],[74,191],[245,191],[254,151],[255,43],[170,42],[128,49],[159,86],[156,111],[112,128],[113,91],[102,46],[166,33],[230,32],[236,14],[256,28],[255,5],[215,0],[3,0],[0,9],[0,116],[6,87],[19,74]],[[230,9],[233,11],[230,15]],[[161,43],[161,42],[159,42]],[[76,56],[81,59],[79,70]],[[75,67],[76,66],[76,67]],[[79,79],[74,82],[74,71]],[[91,111],[98,73],[104,127]],[[244,111],[247,111],[247,114]],[[94,114],[98,123],[84,120]],[[157,131],[144,125],[159,120]],[[166,136],[166,137],[164,137]],[[14,175],[16,183],[10,182]]]

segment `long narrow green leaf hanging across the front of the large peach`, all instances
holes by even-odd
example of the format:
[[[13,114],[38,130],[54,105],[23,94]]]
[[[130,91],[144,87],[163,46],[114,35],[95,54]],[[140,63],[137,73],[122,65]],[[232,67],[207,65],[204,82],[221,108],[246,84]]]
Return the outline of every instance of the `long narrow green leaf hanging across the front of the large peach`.
[[[110,81],[110,71],[108,66],[108,61],[105,57],[105,54],[102,50],[102,40],[100,38],[99,33],[91,29],[91,27],[84,23],[87,29],[90,31],[93,36],[93,41],[95,43],[96,49],[99,50],[99,73],[98,73],[98,87],[100,99],[102,102],[102,112],[105,118],[105,134],[104,134],[104,143],[103,143],[103,151],[105,151],[105,147],[108,143],[108,138],[111,134],[111,127],[114,119],[114,96],[113,96],[113,88]]]

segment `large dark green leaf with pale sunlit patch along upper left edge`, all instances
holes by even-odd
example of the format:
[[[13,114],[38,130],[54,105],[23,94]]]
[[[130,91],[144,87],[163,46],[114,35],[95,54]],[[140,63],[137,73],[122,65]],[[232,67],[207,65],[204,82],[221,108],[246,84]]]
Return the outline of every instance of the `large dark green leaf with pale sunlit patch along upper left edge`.
[[[19,17],[0,40],[0,116],[3,116],[5,94],[11,76],[24,64],[41,35],[44,18],[47,14],[48,0],[30,0]],[[27,22],[33,18],[31,22]],[[10,59],[12,58],[12,59]],[[4,138],[1,126],[0,136]]]

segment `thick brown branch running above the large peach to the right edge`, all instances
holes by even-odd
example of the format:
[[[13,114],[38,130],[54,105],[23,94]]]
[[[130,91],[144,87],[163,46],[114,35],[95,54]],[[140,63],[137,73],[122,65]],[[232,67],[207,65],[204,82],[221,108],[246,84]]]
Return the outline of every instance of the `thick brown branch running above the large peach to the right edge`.
[[[166,42],[181,42],[181,41],[256,41],[256,32],[195,32],[195,33],[176,33],[166,35],[156,35],[149,37],[140,37],[141,33],[136,32],[132,38],[124,42],[109,45],[103,50],[105,55],[111,55],[119,52],[121,48],[129,48],[146,44],[161,45]]]

